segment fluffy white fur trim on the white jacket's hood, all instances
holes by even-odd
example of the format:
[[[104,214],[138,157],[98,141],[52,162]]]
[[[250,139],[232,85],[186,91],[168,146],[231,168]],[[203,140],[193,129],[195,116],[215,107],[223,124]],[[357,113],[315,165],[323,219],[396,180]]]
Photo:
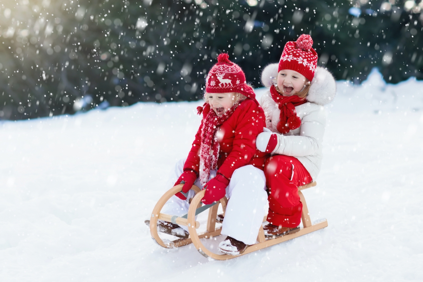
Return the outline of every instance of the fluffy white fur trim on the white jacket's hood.
[[[277,68],[279,64],[274,63],[267,65],[261,73],[261,82],[264,86],[269,87],[276,82]],[[310,90],[308,91],[307,100],[321,106],[329,104],[335,99],[336,82],[332,74],[323,67],[318,66],[311,81]]]

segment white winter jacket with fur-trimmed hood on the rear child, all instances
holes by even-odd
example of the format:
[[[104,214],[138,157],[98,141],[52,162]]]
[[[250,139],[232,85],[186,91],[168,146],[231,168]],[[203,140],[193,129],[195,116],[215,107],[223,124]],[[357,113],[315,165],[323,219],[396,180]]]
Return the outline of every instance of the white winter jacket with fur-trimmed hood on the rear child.
[[[264,68],[261,81],[270,88],[277,77],[278,64],[270,64]],[[329,104],[336,93],[335,79],[325,68],[317,67],[310,85],[308,102],[295,107],[301,126],[286,134],[280,134],[276,126],[280,118],[280,110],[273,101],[270,90],[258,100],[266,115],[266,127],[278,134],[278,145],[275,154],[294,156],[308,170],[316,181],[321,168],[322,141],[326,126],[324,105]]]

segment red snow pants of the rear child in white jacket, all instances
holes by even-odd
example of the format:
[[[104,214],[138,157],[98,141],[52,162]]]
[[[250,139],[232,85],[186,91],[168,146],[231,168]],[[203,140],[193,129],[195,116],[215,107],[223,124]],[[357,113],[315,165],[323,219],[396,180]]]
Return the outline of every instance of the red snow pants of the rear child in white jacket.
[[[298,186],[312,181],[310,173],[298,159],[274,155],[266,160],[264,175],[269,189],[267,221],[276,226],[297,227],[302,211]]]

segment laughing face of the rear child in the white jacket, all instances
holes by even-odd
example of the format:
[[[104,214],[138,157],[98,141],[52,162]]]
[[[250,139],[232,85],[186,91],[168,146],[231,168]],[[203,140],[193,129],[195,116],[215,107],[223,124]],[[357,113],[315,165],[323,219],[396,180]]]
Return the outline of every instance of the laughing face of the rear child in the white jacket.
[[[277,88],[283,96],[298,94],[303,89],[307,79],[297,71],[280,70],[277,74]]]

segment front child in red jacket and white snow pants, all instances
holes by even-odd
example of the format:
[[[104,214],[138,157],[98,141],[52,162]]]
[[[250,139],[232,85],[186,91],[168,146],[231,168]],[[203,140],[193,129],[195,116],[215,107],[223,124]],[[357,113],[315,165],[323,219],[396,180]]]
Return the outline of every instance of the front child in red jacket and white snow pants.
[[[206,103],[187,159],[176,164],[173,181],[184,183],[165,204],[162,212],[181,216],[188,211],[193,184],[206,189],[204,204],[229,198],[222,234],[228,237],[219,245],[226,254],[238,255],[255,244],[267,209],[265,153],[255,148],[255,138],[263,131],[264,112],[246,84],[242,69],[228,54],[220,54],[206,78]],[[188,233],[170,222],[160,222],[159,230],[187,237]]]

